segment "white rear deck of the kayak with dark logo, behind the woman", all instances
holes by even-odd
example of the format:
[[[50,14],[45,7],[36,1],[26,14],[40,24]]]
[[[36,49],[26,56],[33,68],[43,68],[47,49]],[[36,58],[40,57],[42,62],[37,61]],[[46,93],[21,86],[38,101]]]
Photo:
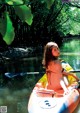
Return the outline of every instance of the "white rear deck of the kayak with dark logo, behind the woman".
[[[29,113],[72,113],[79,104],[79,92],[73,89],[68,95],[51,95],[34,89],[28,103]],[[43,94],[44,93],[44,94]],[[53,92],[52,92],[53,93]]]

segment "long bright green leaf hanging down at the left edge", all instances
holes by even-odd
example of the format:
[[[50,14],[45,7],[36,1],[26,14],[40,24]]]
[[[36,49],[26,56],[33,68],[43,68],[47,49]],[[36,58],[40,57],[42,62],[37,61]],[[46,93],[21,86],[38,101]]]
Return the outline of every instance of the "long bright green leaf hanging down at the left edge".
[[[3,40],[8,45],[14,40],[14,27],[7,12],[4,14],[4,18],[0,19],[0,33],[3,36]]]

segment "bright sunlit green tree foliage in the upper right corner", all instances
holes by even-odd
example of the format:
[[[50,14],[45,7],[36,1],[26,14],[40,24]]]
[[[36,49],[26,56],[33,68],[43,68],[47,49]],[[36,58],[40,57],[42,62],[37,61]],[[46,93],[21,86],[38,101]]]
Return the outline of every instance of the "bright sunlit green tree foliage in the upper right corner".
[[[67,7],[66,15],[67,21],[60,23],[61,27],[58,29],[63,36],[67,34],[79,35],[80,34],[80,4],[79,0],[63,0]]]

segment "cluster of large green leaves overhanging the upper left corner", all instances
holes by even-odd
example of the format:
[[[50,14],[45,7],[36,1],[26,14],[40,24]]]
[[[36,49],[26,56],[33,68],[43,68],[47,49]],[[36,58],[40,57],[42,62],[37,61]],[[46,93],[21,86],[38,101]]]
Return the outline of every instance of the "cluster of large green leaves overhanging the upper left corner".
[[[27,1],[27,0],[26,0]],[[2,11],[2,15],[0,17],[0,33],[3,36],[3,40],[6,44],[10,45],[15,38],[14,27],[12,25],[12,20],[10,19],[10,15],[7,9],[9,6],[12,6],[16,12],[16,15],[19,16],[22,22],[26,22],[28,25],[32,24],[33,15],[31,14],[31,9],[24,4],[23,0],[4,0],[0,1],[1,8],[4,8]],[[6,16],[5,15],[6,12]]]

